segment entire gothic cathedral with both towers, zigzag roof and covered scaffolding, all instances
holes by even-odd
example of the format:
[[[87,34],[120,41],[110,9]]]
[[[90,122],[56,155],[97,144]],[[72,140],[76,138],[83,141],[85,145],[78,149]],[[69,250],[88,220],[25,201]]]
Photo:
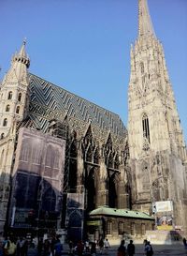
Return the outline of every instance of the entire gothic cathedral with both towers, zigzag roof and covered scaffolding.
[[[147,1],[138,8],[128,135],[118,114],[29,73],[25,42],[13,56],[0,87],[0,231],[143,236],[148,214],[187,230],[180,119]]]

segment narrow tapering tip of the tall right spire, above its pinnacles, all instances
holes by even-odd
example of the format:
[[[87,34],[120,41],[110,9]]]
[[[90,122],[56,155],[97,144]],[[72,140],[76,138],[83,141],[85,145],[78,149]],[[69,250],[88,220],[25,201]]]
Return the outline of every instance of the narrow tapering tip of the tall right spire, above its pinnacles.
[[[138,0],[138,37],[154,36],[147,0]]]

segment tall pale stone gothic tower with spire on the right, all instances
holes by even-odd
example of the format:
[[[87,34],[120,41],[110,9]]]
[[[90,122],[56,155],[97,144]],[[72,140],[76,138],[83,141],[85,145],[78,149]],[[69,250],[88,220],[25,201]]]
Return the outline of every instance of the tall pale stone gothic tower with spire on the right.
[[[187,229],[186,148],[147,0],[138,0],[138,36],[131,47],[128,136],[134,208],[152,213],[152,203],[170,201],[173,228]]]

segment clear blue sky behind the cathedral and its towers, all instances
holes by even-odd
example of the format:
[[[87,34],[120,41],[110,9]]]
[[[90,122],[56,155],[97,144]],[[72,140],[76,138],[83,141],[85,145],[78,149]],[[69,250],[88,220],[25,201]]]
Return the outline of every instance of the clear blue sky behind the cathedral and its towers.
[[[187,1],[148,0],[187,138]],[[0,78],[27,38],[30,72],[119,113],[127,125],[137,0],[1,0]]]

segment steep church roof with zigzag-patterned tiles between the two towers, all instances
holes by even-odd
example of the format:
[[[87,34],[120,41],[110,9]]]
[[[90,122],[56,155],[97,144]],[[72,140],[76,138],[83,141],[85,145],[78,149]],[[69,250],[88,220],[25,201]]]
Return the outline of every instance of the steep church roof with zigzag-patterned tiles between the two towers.
[[[120,116],[97,106],[84,98],[66,91],[53,83],[29,74],[31,100],[29,115],[35,124],[46,130],[52,118],[61,119],[65,116],[75,117],[86,123],[92,120],[92,125],[108,129],[118,135],[124,135],[126,129]]]

